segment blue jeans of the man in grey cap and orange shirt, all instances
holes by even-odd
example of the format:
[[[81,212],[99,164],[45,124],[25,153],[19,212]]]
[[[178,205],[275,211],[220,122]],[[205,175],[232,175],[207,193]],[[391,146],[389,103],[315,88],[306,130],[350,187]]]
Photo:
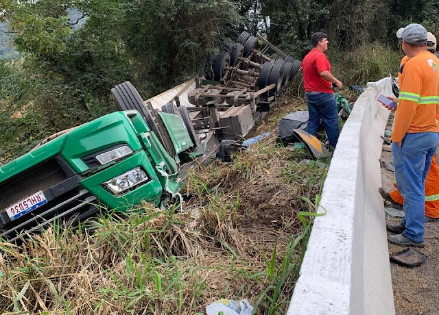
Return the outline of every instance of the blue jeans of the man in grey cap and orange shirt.
[[[396,183],[404,197],[403,234],[414,242],[424,241],[425,177],[438,144],[436,132],[405,134],[401,148],[392,144]]]

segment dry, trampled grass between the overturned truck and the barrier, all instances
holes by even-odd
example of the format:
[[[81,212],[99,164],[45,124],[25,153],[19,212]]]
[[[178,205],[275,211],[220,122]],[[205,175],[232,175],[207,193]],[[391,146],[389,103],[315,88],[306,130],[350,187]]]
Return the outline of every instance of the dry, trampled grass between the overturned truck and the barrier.
[[[278,102],[257,126],[272,136],[191,174],[182,212],[145,204],[0,244],[0,311],[204,314],[246,298],[257,314],[285,314],[308,235],[300,197],[313,199],[325,173],[298,164],[304,151],[274,146],[278,118],[297,107]]]

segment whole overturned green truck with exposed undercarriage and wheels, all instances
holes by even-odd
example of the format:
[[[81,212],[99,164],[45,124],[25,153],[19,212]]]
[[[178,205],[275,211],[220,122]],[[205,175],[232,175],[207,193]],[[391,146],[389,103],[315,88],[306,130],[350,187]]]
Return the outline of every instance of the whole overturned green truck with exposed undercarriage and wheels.
[[[1,166],[0,238],[13,242],[100,207],[123,212],[177,197],[187,173],[209,162],[222,140],[244,138],[297,74],[300,62],[293,68],[265,57],[245,33],[251,45],[237,43],[233,62],[219,54],[216,82],[195,77],[143,101],[126,81],[111,90],[119,112],[61,131]]]

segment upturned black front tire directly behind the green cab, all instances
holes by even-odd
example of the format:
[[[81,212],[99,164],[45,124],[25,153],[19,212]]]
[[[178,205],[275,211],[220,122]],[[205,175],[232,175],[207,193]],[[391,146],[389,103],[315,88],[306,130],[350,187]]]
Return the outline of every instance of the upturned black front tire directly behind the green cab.
[[[161,117],[158,116],[152,107],[143,103],[139,92],[137,92],[130,81],[123,82],[112,88],[111,96],[119,110],[137,110],[145,119],[150,129],[154,131],[154,134],[156,134],[167,153],[172,157],[176,155],[174,144],[172,144],[171,137]]]

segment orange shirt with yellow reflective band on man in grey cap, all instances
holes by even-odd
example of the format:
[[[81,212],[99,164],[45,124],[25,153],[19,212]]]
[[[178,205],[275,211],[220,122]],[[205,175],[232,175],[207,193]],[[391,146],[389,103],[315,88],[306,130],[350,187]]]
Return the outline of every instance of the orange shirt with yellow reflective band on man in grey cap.
[[[404,64],[392,140],[407,133],[438,132],[439,59],[429,51]]]

